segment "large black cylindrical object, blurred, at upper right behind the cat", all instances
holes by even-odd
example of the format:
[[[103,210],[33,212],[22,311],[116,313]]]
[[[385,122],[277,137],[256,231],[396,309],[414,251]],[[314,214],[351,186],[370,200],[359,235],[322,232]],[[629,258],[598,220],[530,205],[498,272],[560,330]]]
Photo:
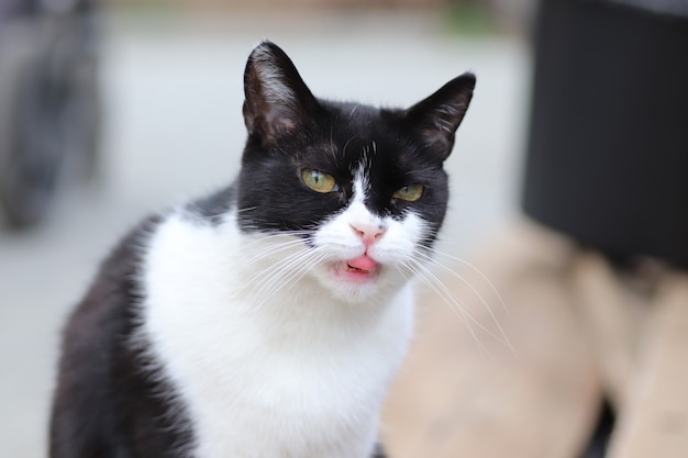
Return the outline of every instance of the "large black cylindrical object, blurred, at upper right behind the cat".
[[[688,5],[623,3],[542,1],[523,208],[612,258],[687,268]]]

